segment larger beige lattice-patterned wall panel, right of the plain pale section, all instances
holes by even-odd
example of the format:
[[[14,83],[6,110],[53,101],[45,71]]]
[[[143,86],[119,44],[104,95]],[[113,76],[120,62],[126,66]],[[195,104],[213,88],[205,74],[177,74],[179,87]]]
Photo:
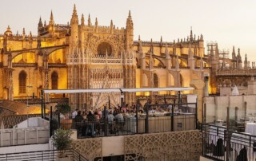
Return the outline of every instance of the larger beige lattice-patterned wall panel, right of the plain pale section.
[[[125,160],[198,160],[202,133],[166,132],[125,136]]]

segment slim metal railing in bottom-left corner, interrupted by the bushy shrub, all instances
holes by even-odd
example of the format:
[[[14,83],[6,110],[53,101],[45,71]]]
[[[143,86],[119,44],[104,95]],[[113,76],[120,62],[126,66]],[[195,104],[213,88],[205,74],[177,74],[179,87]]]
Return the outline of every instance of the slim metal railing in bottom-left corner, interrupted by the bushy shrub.
[[[58,150],[47,150],[47,151],[29,151],[29,152],[20,152],[20,153],[8,153],[0,154],[0,161],[3,160],[45,160],[45,161],[54,161],[61,156],[62,151]],[[69,160],[74,161],[88,161],[83,155],[79,154],[78,151],[74,149],[66,149],[65,157]]]

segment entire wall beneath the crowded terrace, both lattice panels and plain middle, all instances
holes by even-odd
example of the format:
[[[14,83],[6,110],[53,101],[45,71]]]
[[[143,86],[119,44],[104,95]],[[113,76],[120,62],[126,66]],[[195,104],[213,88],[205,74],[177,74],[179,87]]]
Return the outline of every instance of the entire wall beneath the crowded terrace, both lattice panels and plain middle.
[[[74,140],[72,147],[87,159],[98,161],[102,160],[103,155],[109,153],[124,155],[126,161],[149,159],[152,161],[193,161],[199,160],[202,154],[202,133],[199,131],[126,135],[123,139],[120,136],[112,136],[112,143],[118,142],[121,147],[104,145],[109,142],[104,142],[103,139],[105,138]],[[120,151],[124,153],[120,154]]]

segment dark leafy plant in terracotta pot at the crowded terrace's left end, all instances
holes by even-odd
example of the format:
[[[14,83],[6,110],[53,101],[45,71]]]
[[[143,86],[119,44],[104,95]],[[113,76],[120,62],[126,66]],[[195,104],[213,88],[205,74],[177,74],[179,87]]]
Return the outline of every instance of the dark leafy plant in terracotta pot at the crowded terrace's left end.
[[[71,107],[69,104],[67,103],[63,103],[63,104],[57,104],[56,108],[58,109],[58,112],[60,112],[63,116],[64,119],[61,120],[61,128],[64,129],[70,129],[72,126],[72,120],[69,119],[69,113],[71,111]]]

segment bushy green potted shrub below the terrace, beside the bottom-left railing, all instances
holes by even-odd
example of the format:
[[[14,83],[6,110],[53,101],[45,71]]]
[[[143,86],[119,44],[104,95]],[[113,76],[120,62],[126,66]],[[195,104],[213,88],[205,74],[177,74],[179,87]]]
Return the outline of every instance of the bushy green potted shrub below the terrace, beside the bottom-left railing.
[[[54,147],[58,151],[60,151],[60,155],[58,155],[59,159],[67,158],[67,156],[65,155],[65,150],[71,147],[72,139],[70,138],[70,136],[72,135],[72,133],[73,132],[71,130],[65,130],[60,128],[54,132],[52,142]]]

